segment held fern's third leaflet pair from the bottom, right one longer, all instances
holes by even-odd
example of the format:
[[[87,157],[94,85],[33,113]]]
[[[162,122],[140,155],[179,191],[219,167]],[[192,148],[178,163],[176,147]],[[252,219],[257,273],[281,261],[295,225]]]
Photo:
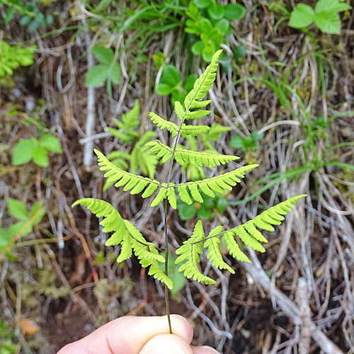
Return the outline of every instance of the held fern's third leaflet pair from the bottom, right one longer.
[[[156,154],[157,157],[162,158],[161,162],[163,164],[166,161],[169,161],[172,157],[173,148],[162,144],[159,140],[148,142],[145,146],[151,147],[150,152]],[[214,167],[215,165],[219,166],[220,164],[227,164],[227,162],[239,159],[239,157],[232,155],[211,154],[210,152],[195,152],[192,150],[176,149],[174,159],[176,159],[178,164],[181,166],[192,164]]]

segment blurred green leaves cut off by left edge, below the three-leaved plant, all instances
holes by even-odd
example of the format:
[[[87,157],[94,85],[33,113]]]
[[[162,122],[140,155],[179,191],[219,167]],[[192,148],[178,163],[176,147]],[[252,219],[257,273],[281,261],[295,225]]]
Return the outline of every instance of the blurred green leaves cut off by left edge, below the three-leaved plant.
[[[30,212],[20,200],[8,198],[7,199],[8,214],[11,215],[17,222],[11,224],[8,230],[0,227],[0,253],[5,253],[9,258],[12,257],[10,253],[11,245],[18,239],[18,237],[30,234],[33,227],[40,222],[45,215],[44,208],[35,202]]]

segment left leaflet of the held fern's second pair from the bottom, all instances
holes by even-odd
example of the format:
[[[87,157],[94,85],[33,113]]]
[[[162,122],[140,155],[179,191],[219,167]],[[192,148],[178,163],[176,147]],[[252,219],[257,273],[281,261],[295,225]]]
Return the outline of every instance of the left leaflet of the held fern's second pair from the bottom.
[[[161,187],[161,183],[156,180],[152,180],[147,177],[136,176],[133,173],[123,171],[114,166],[101,152],[95,149],[96,155],[98,156],[98,165],[101,166],[101,171],[106,171],[104,176],[107,178],[109,183],[115,183],[115,187],[121,187],[124,185],[123,190],[130,190],[130,194],[137,194],[142,192],[145,187],[142,198],[147,198],[156,189]]]

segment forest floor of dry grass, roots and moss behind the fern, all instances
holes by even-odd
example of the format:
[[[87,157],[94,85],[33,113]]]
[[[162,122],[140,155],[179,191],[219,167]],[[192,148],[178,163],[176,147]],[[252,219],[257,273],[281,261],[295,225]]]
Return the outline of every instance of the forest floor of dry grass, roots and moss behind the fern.
[[[136,258],[117,263],[119,249],[104,245],[98,219],[72,203],[91,197],[111,202],[149,241],[162,244],[161,209],[122,188],[103,191],[105,178],[93,148],[107,155],[131,154],[136,147],[134,161],[120,156],[118,164],[127,169],[135,164],[138,173],[164,181],[164,166],[150,171],[152,157],[139,147],[149,131],[172,144],[149,120],[149,112],[176,119],[171,96],[156,93],[156,83],[167,63],[184,81],[200,75],[207,62],[190,51],[187,0],[149,1],[149,6],[36,1],[53,22],[34,29],[21,22],[25,15],[17,8],[5,21],[14,2],[0,5],[0,39],[37,47],[32,65],[0,76],[0,353],[52,354],[118,316],[165,314],[160,283]],[[207,144],[240,156],[232,167],[259,167],[223,196],[224,209],[212,204],[203,224],[236,226],[295,195],[307,197],[275,232],[264,233],[265,253],[245,248],[252,264],[225,252],[234,275],[202,258],[202,268],[217,284],[185,282],[171,297],[171,313],[193,324],[193,344],[224,354],[354,353],[354,11],[341,13],[340,35],[329,35],[314,25],[289,27],[281,8],[291,11],[299,1],[273,2],[281,6],[239,1],[246,13],[230,21],[222,44],[229,57],[209,93],[212,113],[202,122],[230,128]],[[86,86],[86,72],[98,64],[91,51],[97,46],[115,51],[118,83]],[[122,142],[108,127],[117,128],[115,120],[135,100],[138,137]],[[48,166],[13,164],[21,139],[43,135],[57,137],[62,146],[49,154]],[[198,149],[205,143],[195,142]],[[190,169],[181,178],[216,173]],[[1,237],[18,222],[8,198],[20,200],[28,211],[38,203],[43,211],[25,236],[18,229],[4,247]],[[172,246],[190,236],[199,207],[185,220],[169,213]]]

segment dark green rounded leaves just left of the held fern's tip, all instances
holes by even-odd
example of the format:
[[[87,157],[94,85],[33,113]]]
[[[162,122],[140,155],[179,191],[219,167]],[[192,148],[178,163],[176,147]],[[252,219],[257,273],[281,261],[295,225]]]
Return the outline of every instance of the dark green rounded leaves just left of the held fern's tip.
[[[160,60],[161,57],[156,57],[156,60]],[[156,86],[156,93],[161,96],[171,95],[172,103],[176,101],[183,101],[185,95],[193,88],[193,84],[197,76],[190,74],[185,79],[184,85],[181,81],[181,74],[176,67],[172,64],[167,64],[162,70],[162,76],[159,85]]]

